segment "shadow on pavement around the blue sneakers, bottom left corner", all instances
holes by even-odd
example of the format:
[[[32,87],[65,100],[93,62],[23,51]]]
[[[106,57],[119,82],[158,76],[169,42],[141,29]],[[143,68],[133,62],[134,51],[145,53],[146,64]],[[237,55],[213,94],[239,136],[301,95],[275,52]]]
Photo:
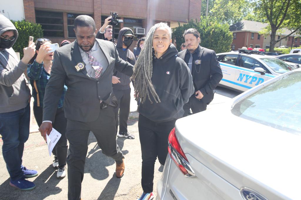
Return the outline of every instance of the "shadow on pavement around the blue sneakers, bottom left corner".
[[[30,181],[30,178],[28,180]],[[36,188],[30,191],[22,191],[9,186],[10,178],[8,178],[0,185],[1,199],[45,199],[62,191],[61,188],[56,187],[60,180],[57,179],[56,171],[51,164],[33,180]]]

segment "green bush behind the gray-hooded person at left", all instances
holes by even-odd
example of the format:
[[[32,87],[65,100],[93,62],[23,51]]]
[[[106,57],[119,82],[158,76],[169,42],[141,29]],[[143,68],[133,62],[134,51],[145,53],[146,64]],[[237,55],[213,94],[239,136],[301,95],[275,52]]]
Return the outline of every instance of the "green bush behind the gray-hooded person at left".
[[[34,41],[37,38],[43,38],[43,29],[40,24],[22,21],[11,21],[18,30],[19,36],[13,46],[15,52],[20,53],[20,59],[23,57],[23,48],[28,46],[28,37],[33,36]]]

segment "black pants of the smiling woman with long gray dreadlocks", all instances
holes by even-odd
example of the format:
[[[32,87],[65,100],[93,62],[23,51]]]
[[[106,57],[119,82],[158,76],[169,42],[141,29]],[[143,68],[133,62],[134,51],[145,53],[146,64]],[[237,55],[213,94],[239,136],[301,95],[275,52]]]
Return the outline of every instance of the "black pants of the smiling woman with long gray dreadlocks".
[[[139,114],[138,129],[142,153],[141,185],[144,192],[153,192],[154,168],[158,157],[164,165],[168,153],[168,136],[175,121],[156,123]]]

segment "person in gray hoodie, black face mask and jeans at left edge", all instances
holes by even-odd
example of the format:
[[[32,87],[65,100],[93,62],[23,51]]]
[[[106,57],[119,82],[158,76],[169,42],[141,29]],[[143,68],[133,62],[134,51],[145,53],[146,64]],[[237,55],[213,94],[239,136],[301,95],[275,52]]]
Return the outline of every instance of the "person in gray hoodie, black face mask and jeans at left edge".
[[[8,173],[10,186],[21,190],[31,190],[36,186],[26,178],[38,175],[22,165],[24,143],[29,136],[30,90],[23,72],[35,54],[35,44],[23,49],[21,60],[12,46],[18,38],[18,31],[4,15],[0,14],[0,134],[2,154]]]

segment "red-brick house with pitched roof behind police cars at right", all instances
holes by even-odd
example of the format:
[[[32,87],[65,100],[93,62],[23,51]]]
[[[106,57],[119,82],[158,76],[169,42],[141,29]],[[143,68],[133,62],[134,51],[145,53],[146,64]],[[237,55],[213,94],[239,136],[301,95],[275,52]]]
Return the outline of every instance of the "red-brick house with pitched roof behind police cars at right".
[[[230,31],[233,32],[233,41],[231,44],[231,50],[237,50],[241,47],[252,47],[267,49],[270,47],[271,35],[260,35],[259,32],[263,28],[268,26],[267,23],[254,22],[249,20],[242,20],[234,25],[230,26]],[[291,31],[285,29],[280,37],[290,34]],[[299,47],[301,45],[300,35],[292,34],[288,38],[276,43],[275,47],[287,46],[287,47]]]

